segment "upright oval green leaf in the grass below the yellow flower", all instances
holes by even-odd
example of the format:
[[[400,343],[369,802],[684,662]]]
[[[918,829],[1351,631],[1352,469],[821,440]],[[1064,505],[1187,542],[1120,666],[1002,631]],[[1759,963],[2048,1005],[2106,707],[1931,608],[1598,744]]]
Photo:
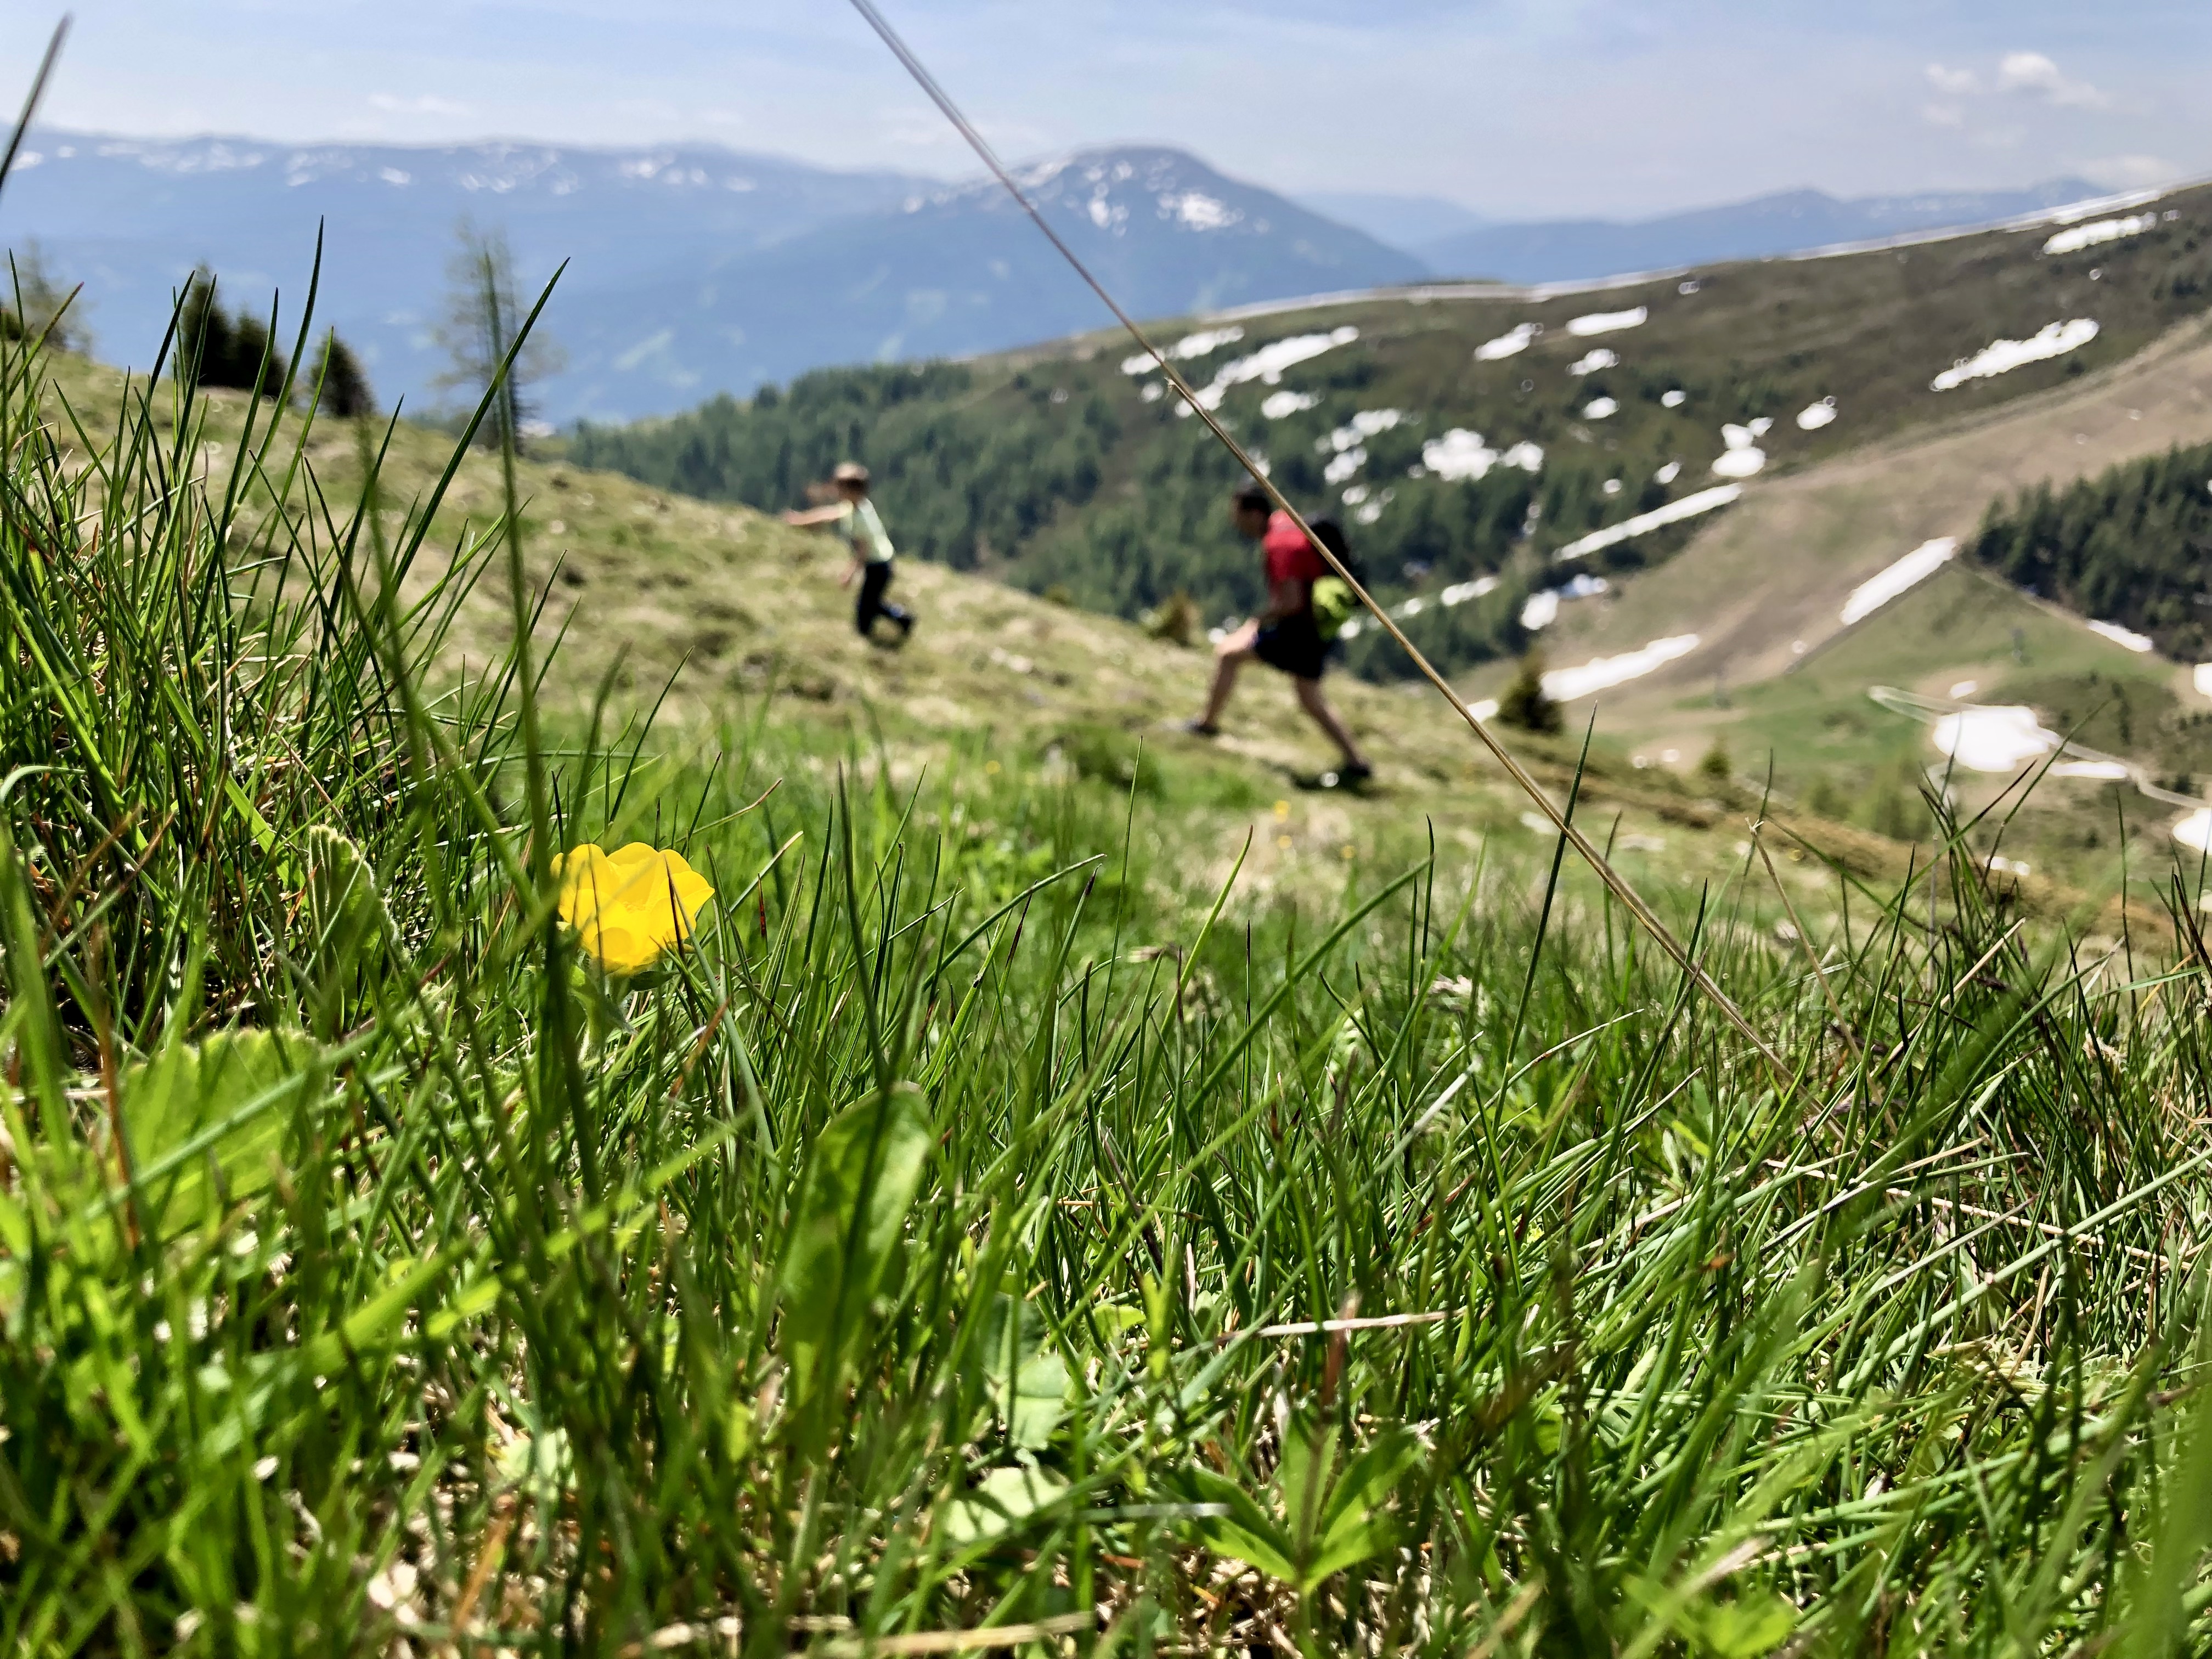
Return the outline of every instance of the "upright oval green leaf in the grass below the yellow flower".
[[[894,1084],[823,1128],[799,1181],[783,1248],[783,1349],[794,1400],[836,1394],[845,1356],[867,1323],[931,1146],[922,1091]]]

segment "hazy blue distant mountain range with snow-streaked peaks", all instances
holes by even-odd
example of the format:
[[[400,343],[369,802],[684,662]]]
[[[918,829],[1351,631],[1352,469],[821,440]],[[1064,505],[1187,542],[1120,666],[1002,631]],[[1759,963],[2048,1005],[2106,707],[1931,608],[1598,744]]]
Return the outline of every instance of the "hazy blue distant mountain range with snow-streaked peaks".
[[[1387,288],[1431,274],[1573,281],[2004,219],[2081,181],[1836,201],[1820,192],[1641,223],[1486,223],[1436,197],[1294,201],[1159,146],[1020,170],[1037,208],[1139,316]],[[564,367],[551,420],[668,414],[832,363],[973,356],[1102,321],[1097,299],[989,181],[838,173],[717,146],[274,144],[33,133],[0,237],[82,283],[102,356],[153,358],[195,265],[232,305],[296,319],[325,234],[316,316],[378,394],[422,407],[465,221],[504,230],[524,285],[566,261],[546,312]]]

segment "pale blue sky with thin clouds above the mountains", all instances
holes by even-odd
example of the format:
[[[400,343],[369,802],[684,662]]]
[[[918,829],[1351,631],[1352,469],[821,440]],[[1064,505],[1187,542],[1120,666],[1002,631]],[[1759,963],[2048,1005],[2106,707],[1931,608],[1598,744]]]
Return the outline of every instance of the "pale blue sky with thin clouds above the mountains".
[[[1639,215],[2212,173],[2212,7],[2166,0],[883,0],[1009,155],[1159,139],[1285,190]],[[843,0],[77,0],[53,124],[712,139],[967,173]],[[0,9],[29,73],[51,15]],[[13,93],[7,93],[13,97]]]

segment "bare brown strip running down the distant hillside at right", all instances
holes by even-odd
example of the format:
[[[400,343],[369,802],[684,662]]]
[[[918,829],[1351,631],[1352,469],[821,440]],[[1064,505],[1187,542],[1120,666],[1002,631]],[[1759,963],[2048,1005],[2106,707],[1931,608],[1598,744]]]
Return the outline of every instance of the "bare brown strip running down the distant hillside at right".
[[[1571,608],[1546,648],[1559,666],[1701,637],[1688,657],[1610,692],[1615,706],[1679,697],[1717,675],[1734,686],[1767,679],[1796,659],[1794,641],[1809,650],[1840,633],[1845,597],[1876,571],[1931,538],[1973,535],[1993,495],[2208,438],[2212,325],[2199,321],[2057,392],[1754,484],[1672,562],[1624,582],[1617,599]]]

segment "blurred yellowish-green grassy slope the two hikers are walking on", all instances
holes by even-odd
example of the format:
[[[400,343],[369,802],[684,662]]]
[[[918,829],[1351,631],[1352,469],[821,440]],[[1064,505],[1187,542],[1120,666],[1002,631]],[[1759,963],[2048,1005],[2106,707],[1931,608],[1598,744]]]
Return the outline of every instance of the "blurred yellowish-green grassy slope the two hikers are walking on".
[[[126,418],[124,378],[82,358],[51,358],[44,376],[53,429],[64,456],[82,460],[84,434],[115,431]],[[221,478],[246,418],[234,392],[204,394],[195,418],[208,478]],[[270,405],[254,418],[265,427]],[[173,389],[150,398],[153,429],[173,438]],[[296,427],[299,416],[288,414]],[[354,427],[321,422],[303,458],[332,498],[361,489],[367,447]],[[378,465],[383,524],[396,535],[427,502],[449,460],[451,438],[392,429]],[[1316,790],[1332,763],[1327,743],[1296,712],[1290,688],[1259,672],[1239,690],[1219,743],[1183,737],[1175,721],[1203,703],[1212,657],[1144,630],[1055,604],[922,560],[902,560],[896,595],[922,617],[900,650],[863,644],[852,630],[852,593],[836,586],[845,555],[825,538],[792,531],[754,511],[657,491],[619,473],[568,460],[518,467],[524,529],[524,580],[538,611],[535,635],[560,641],[544,688],[551,710],[584,717],[611,695],[613,717],[655,712],[661,739],[710,752],[732,710],[754,710],[803,732],[810,770],[838,757],[887,763],[898,781],[964,757],[1006,765],[1046,765],[1108,787],[1137,783],[1148,801],[1192,816],[1219,838],[1221,856],[1261,823],[1254,869],[1303,872],[1307,856],[1340,874],[1340,847],[1365,843],[1385,825],[1427,816],[1447,836],[1504,832],[1531,838],[1526,803],[1433,697],[1402,688],[1332,679],[1332,697],[1376,750],[1378,787],[1369,796]],[[422,593],[458,551],[480,557],[502,500],[493,456],[465,456],[438,502],[420,573]],[[257,524],[276,524],[248,491]],[[312,515],[303,531],[330,555],[332,524]],[[476,588],[445,633],[438,670],[482,672],[513,639],[504,595]],[[1568,741],[1515,739],[1557,790],[1577,770]],[[1601,748],[1582,768],[1584,799],[1619,816],[1619,832],[1644,852],[1630,858],[1663,880],[1721,878],[1736,865],[1732,794],[1714,799],[1697,779],[1646,776],[1624,752]],[[1281,803],[1281,805],[1279,805]],[[1721,827],[1714,827],[1721,825]],[[1290,845],[1279,845],[1283,841]],[[1902,869],[1902,847],[1867,843],[1854,852],[1867,869]]]

